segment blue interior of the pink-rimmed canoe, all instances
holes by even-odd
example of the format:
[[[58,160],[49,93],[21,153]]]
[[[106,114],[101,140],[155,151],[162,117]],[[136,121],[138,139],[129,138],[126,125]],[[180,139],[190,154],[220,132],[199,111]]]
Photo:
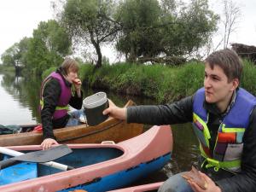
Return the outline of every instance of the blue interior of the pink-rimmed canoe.
[[[22,153],[26,152],[22,151]],[[124,154],[124,152],[118,148],[73,148],[71,154],[67,154],[54,161],[67,166],[73,166],[74,168],[79,168],[106,160],[113,160],[122,154]],[[6,160],[8,158],[8,155],[2,155],[1,160]],[[0,185],[16,183],[34,177],[43,177],[57,172],[63,171],[37,163],[21,162],[15,166],[9,166],[0,171]]]

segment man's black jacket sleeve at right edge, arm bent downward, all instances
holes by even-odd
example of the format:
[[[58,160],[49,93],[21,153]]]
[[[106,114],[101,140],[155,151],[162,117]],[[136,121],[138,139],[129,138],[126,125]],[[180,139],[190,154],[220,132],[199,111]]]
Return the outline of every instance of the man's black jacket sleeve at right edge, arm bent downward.
[[[253,192],[256,190],[256,108],[250,116],[250,125],[243,137],[241,173],[216,183],[222,192]]]

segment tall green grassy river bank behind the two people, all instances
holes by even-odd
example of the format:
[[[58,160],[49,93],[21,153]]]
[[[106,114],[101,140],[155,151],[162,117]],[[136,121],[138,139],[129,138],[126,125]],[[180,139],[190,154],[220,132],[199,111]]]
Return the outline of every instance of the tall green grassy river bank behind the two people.
[[[103,65],[94,71],[91,65],[82,65],[80,77],[90,87],[112,90],[123,94],[147,96],[158,102],[173,102],[192,95],[203,85],[203,63],[190,62],[179,67],[144,66],[119,63]],[[244,61],[241,87],[256,95],[256,68]]]

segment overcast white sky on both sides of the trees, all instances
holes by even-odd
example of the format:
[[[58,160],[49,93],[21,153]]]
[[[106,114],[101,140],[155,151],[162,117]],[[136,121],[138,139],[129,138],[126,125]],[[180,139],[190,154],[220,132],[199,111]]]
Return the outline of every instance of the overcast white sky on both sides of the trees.
[[[24,37],[32,37],[33,29],[42,20],[53,17],[52,0],[0,0],[0,55]],[[210,0],[212,9],[220,14],[222,0]],[[256,46],[256,0],[233,0],[241,7],[241,22],[232,33],[230,43]],[[104,54],[104,53],[103,53]],[[108,55],[107,55],[108,56]],[[108,56],[109,57],[109,56]]]

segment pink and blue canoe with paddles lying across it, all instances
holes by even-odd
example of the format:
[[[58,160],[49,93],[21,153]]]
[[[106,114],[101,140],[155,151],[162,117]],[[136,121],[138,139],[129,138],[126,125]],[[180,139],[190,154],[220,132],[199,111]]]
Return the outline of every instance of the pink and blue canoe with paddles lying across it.
[[[57,163],[73,166],[70,171],[37,163],[21,162],[0,171],[0,191],[73,191],[89,192],[123,188],[140,177],[160,170],[172,154],[170,126],[153,126],[142,135],[121,143],[69,144],[73,149]],[[27,153],[40,146],[15,146]],[[2,160],[8,155],[0,155]]]

